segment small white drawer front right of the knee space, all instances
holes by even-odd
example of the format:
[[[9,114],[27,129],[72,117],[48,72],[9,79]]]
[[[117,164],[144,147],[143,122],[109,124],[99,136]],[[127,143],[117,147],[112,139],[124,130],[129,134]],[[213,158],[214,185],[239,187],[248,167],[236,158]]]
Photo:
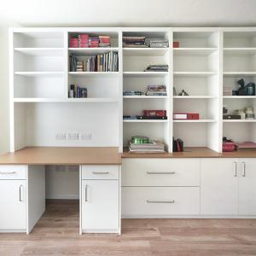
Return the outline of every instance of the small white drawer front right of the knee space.
[[[82,179],[119,179],[119,166],[82,166]]]

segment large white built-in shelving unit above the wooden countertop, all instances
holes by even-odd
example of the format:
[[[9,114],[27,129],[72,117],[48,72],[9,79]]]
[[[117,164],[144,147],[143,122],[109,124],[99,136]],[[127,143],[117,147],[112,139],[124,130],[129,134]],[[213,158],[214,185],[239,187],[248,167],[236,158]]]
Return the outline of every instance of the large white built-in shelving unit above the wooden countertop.
[[[69,48],[80,33],[107,35],[110,48]],[[169,48],[123,48],[123,36],[165,38]],[[179,48],[172,43],[179,42]],[[69,55],[78,58],[119,53],[118,72],[70,72]],[[168,72],[144,72],[167,64]],[[256,28],[85,27],[10,30],[10,150],[26,146],[119,147],[134,135],[166,144],[183,139],[186,147],[222,151],[222,137],[256,142],[256,120],[222,118],[246,107],[256,96],[223,96],[223,85],[238,79],[256,82]],[[70,84],[88,89],[88,98],[68,98]],[[167,96],[123,96],[166,85]],[[189,96],[173,95],[181,90]],[[72,103],[72,104],[71,104]],[[167,119],[124,119],[143,109],[166,109]],[[199,120],[173,120],[173,113],[200,113]],[[64,140],[63,137],[66,137]]]

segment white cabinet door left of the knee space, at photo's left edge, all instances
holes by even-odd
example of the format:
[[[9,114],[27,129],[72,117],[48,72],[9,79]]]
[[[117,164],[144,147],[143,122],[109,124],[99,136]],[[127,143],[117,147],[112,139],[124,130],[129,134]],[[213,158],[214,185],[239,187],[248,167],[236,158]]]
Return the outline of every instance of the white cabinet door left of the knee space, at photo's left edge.
[[[0,180],[0,230],[26,229],[26,181]]]

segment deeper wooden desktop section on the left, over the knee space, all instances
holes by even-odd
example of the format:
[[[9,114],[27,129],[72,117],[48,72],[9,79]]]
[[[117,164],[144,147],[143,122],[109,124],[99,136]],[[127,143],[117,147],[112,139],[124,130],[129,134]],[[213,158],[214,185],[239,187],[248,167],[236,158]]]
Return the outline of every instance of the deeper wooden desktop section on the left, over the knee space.
[[[2,165],[120,165],[118,148],[27,147],[0,156]]]

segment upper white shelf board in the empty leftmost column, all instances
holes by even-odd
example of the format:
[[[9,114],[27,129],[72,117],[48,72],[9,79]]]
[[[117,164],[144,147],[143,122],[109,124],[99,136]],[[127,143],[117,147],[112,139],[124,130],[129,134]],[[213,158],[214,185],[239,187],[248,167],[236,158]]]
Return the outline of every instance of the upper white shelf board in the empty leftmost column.
[[[63,48],[15,48],[15,52],[25,55],[35,56],[61,56],[64,54]]]

